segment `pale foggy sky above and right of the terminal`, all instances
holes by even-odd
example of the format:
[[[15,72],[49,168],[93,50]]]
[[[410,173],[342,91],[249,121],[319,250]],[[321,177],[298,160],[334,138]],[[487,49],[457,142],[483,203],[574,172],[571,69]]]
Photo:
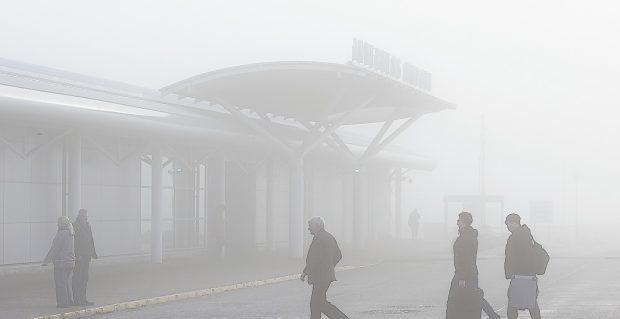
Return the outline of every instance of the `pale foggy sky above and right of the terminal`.
[[[240,64],[345,63],[354,37],[433,74],[457,104],[396,143],[434,158],[406,208],[440,216],[445,194],[487,193],[527,216],[553,200],[573,223],[618,222],[620,5],[614,1],[0,2],[0,57],[158,89]],[[369,132],[370,134],[370,132]]]

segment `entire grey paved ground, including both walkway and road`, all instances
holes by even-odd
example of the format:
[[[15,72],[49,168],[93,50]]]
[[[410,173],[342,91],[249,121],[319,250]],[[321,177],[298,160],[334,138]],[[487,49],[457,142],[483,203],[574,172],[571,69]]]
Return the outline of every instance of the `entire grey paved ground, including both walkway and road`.
[[[346,269],[337,274],[328,299],[351,318],[442,318],[453,274],[448,247],[393,245],[372,257],[351,256],[345,249],[341,266]],[[486,299],[505,318],[508,281],[501,248],[481,251],[478,267]],[[404,250],[408,253],[402,254]],[[543,318],[620,318],[616,255],[555,253],[539,280]],[[91,268],[88,297],[96,305],[66,311],[75,315],[102,306],[114,310],[150,300],[143,307],[91,318],[309,318],[311,289],[296,277],[302,268],[303,260],[278,256],[218,261],[195,255],[168,257],[163,264],[135,257],[104,259]],[[0,271],[0,319],[62,314],[55,308],[52,270],[31,266]],[[188,299],[170,301],[181,295]]]

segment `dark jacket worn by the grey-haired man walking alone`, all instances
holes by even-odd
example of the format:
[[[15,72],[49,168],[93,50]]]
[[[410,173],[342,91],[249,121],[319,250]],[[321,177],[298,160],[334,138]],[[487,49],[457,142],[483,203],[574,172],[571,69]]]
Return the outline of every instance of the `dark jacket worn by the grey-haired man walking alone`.
[[[338,243],[332,234],[319,230],[312,239],[304,274],[308,275],[308,283],[329,283],[336,280],[334,267],[342,259]]]

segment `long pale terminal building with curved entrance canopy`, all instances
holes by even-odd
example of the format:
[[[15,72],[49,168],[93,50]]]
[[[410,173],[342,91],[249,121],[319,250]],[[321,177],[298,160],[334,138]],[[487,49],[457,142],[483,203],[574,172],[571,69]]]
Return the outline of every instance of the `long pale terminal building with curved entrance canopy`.
[[[453,107],[356,62],[243,65],[153,90],[0,60],[0,265],[40,262],[56,219],[80,208],[100,256],[161,262],[224,236],[228,255],[299,258],[313,215],[364,249],[398,236],[402,172],[434,166],[390,143]],[[368,123],[374,137],[348,130]]]

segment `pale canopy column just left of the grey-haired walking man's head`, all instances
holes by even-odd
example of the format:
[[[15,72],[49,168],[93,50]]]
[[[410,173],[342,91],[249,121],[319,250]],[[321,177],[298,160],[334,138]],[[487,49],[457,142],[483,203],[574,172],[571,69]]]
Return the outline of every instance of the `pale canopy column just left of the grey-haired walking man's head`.
[[[304,162],[293,159],[290,173],[289,210],[289,255],[303,258],[304,255]]]

